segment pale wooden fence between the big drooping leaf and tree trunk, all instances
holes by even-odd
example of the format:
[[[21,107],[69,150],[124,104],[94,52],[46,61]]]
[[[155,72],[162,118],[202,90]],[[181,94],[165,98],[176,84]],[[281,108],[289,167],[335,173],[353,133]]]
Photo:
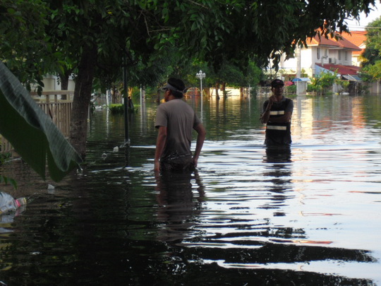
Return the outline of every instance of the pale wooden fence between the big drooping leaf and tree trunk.
[[[30,93],[30,95],[36,95]],[[59,95],[66,95],[67,100],[59,100]],[[41,97],[36,99],[37,105],[52,119],[63,136],[68,137],[70,131],[71,108],[73,106],[73,91],[54,90],[44,91]],[[0,153],[13,153],[12,145],[0,135]]]

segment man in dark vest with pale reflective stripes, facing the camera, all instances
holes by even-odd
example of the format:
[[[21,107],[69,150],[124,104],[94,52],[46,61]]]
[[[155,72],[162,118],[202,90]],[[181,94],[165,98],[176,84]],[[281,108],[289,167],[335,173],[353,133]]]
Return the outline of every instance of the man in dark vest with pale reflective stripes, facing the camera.
[[[262,124],[266,124],[265,144],[290,145],[291,144],[291,115],[294,102],[283,96],[284,83],[275,79],[271,83],[273,95],[263,103]]]

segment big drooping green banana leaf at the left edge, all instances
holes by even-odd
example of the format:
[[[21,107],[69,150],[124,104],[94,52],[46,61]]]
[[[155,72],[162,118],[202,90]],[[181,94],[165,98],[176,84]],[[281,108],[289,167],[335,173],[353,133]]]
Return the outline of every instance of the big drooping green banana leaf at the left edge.
[[[82,162],[52,120],[0,62],[0,133],[23,160],[45,179],[45,167],[60,181]]]

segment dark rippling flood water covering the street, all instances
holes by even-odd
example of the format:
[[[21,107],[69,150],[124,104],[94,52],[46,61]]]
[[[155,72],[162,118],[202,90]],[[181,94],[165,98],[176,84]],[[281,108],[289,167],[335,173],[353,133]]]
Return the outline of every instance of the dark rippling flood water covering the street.
[[[87,165],[58,184],[6,165],[30,203],[2,218],[0,281],[381,285],[380,95],[293,98],[282,152],[262,145],[265,98],[188,100],[207,129],[191,175],[155,178],[153,100],[127,148],[123,116],[96,111]]]

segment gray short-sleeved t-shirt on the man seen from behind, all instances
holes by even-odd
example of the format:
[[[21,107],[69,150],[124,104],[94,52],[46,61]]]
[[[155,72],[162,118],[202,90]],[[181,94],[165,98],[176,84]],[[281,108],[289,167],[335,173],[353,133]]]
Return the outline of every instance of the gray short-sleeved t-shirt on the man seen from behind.
[[[167,143],[162,158],[191,155],[192,131],[200,123],[192,107],[181,99],[169,100],[159,105],[155,127],[167,127]]]

